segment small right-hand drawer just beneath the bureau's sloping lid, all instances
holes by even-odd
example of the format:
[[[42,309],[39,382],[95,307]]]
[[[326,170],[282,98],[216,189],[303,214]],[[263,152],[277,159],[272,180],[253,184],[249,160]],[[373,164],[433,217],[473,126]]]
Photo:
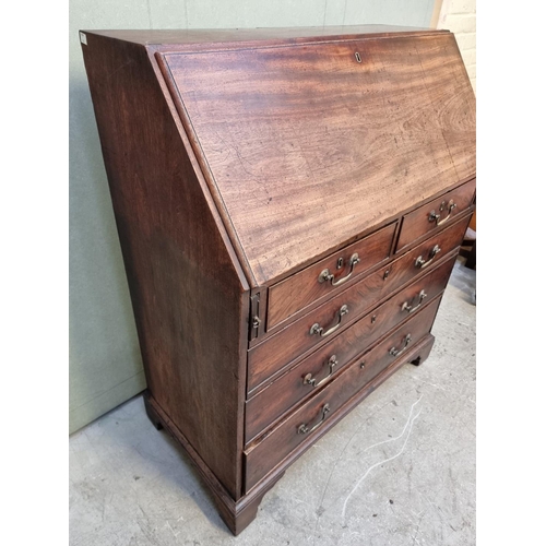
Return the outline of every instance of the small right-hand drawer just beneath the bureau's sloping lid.
[[[396,252],[402,251],[422,237],[431,235],[439,226],[453,222],[453,218],[472,205],[475,191],[476,179],[463,183],[435,201],[406,214],[402,218]]]

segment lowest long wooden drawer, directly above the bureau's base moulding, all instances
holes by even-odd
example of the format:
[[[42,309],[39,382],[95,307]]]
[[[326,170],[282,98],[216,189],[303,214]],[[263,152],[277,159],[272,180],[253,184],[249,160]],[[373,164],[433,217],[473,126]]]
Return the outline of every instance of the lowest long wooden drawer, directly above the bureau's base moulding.
[[[246,490],[252,488],[304,441],[312,441],[313,432],[352,396],[391,364],[403,358],[405,349],[425,337],[432,327],[440,299],[439,296],[376,347],[356,358],[316,396],[290,414],[262,441],[247,450]]]

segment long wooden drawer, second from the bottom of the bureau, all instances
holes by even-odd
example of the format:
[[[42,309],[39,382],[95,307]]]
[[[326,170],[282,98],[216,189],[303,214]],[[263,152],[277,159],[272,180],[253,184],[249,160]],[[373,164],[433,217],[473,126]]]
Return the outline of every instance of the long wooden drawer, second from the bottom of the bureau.
[[[309,355],[251,397],[245,411],[246,442],[254,439],[292,406],[328,383],[346,364],[389,330],[440,295],[449,281],[456,256],[456,251],[453,252],[442,264],[364,316],[331,343]]]

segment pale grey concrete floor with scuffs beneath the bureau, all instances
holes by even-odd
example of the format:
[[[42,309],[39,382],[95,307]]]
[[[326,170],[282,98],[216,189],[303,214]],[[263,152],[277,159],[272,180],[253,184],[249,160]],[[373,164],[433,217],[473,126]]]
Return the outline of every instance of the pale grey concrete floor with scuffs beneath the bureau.
[[[238,537],[141,396],[70,438],[70,544],[475,544],[475,272],[459,261],[420,367],[302,455]]]

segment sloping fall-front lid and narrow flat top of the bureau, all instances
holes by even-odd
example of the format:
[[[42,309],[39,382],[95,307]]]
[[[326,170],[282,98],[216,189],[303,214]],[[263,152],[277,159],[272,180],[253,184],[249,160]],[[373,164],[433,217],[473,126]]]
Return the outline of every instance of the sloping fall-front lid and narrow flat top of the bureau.
[[[475,97],[451,33],[126,33],[108,35],[167,44],[154,49],[252,285],[475,175]]]

